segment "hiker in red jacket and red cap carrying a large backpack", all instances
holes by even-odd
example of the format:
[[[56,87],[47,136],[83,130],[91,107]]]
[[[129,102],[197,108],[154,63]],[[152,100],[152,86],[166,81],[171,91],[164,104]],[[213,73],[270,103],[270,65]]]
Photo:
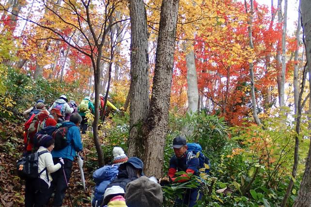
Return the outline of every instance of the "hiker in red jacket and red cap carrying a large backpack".
[[[39,104],[39,103],[38,103]],[[41,111],[39,114],[31,115],[31,118],[24,124],[24,152],[23,155],[31,154],[33,149],[33,137],[35,133],[47,126],[56,126],[57,122],[50,118],[47,110]]]

